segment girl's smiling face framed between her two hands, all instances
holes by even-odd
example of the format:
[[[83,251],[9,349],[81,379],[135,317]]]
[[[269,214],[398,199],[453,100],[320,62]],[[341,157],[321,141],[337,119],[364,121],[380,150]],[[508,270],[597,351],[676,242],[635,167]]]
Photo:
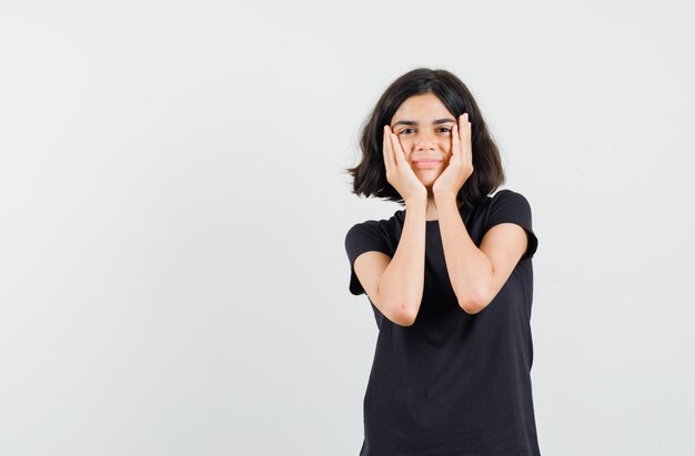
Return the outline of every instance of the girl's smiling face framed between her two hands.
[[[391,120],[405,160],[425,186],[432,186],[449,164],[455,116],[434,93],[405,100]]]

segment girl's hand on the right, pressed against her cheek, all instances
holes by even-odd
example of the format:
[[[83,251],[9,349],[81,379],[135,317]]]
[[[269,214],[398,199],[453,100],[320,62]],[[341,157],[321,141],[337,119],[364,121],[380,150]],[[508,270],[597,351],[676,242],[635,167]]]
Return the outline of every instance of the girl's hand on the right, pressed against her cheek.
[[[471,142],[471,122],[469,114],[459,116],[459,123],[452,130],[452,148],[449,165],[432,184],[433,194],[450,193],[454,196],[465,181],[473,174],[473,146]]]

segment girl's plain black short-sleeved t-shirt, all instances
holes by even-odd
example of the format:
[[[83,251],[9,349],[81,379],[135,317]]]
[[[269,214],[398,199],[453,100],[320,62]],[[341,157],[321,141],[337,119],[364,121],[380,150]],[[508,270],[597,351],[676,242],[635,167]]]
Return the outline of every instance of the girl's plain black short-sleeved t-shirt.
[[[352,294],[365,293],[355,259],[367,251],[393,257],[405,212],[348,232]],[[531,384],[532,257],[538,244],[531,206],[505,189],[460,213],[476,246],[492,226],[511,222],[526,231],[527,250],[494,300],[471,315],[451,286],[439,221],[426,222],[424,290],[413,325],[391,322],[370,300],[379,337],[364,394],[361,456],[541,454]]]

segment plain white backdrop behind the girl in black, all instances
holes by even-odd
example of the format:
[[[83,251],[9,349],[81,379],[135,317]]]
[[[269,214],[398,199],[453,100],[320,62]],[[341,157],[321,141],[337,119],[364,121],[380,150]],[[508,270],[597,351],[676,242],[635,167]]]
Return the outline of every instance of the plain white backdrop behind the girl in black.
[[[386,87],[443,68],[527,197],[543,455],[693,455],[686,1],[0,6],[0,454],[356,455],[346,231]]]

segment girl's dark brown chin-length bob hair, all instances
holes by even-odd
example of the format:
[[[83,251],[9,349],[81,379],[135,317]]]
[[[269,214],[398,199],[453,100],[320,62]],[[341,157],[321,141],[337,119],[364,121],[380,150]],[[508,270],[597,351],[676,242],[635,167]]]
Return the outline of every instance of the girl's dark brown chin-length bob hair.
[[[505,182],[500,151],[487,132],[480,109],[465,84],[446,70],[419,68],[396,79],[381,97],[361,128],[362,161],[345,171],[353,178],[352,193],[405,204],[386,180],[383,155],[384,125],[391,124],[399,107],[410,97],[434,93],[457,120],[464,112],[471,122],[473,174],[456,194],[456,204],[475,206]]]

